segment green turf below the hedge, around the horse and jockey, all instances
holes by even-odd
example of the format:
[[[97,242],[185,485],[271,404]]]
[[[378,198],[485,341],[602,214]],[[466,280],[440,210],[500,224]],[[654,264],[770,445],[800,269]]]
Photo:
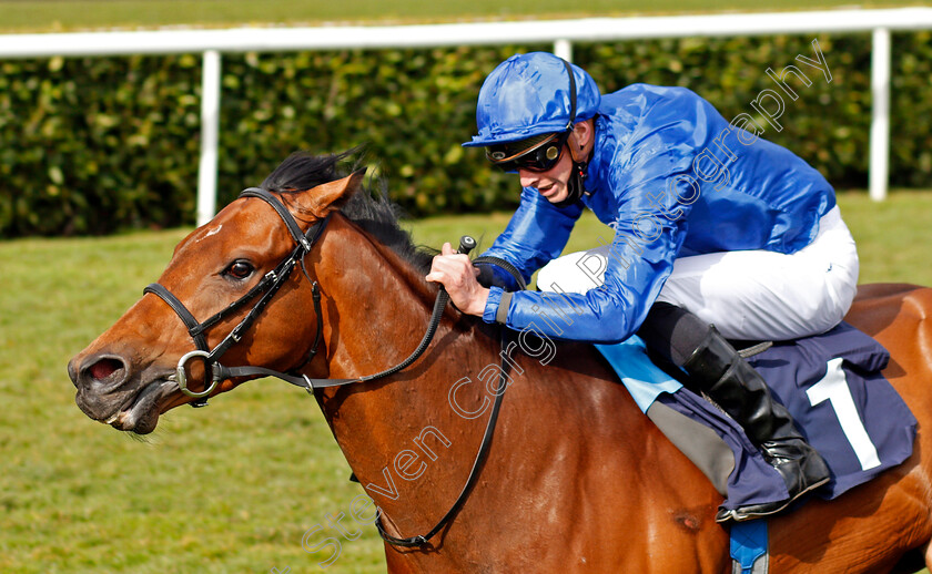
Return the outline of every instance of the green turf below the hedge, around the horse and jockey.
[[[864,280],[932,285],[932,192],[840,203]],[[488,245],[506,222],[469,215],[412,227],[435,247],[464,233]],[[303,533],[348,514],[362,491],[303,391],[254,381],[209,409],[170,412],[145,442],[73,402],[67,360],[140,297],[185,233],[0,243],[0,572],[296,574],[326,557],[302,550]],[[587,217],[570,248],[606,233]],[[344,541],[327,572],[384,572],[374,529]]]

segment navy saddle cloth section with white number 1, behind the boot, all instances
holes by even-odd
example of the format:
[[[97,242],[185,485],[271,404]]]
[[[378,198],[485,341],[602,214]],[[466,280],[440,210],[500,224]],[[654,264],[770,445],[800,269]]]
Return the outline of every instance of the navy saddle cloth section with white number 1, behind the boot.
[[[887,349],[847,322],[749,359],[829,464],[825,499],[912,454],[918,422],[880,372],[889,361]]]

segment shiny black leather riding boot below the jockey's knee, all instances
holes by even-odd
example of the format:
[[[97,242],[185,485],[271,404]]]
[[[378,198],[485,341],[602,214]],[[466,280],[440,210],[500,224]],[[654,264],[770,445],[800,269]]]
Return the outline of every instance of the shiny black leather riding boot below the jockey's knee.
[[[827,482],[829,468],[793,426],[786,407],[773,400],[763,378],[715,327],[683,363],[690,380],[744,429],[787,484],[790,498],[768,504],[720,510],[716,521],[750,520],[780,512]]]

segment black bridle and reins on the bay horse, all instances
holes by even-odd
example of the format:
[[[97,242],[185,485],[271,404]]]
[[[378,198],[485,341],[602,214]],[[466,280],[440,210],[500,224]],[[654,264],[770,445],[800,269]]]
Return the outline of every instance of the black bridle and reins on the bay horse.
[[[314,247],[314,244],[316,244],[323,235],[324,229],[326,228],[327,223],[330,222],[331,215],[327,214],[327,216],[323,219],[314,222],[307,228],[307,232],[302,232],[301,227],[298,226],[291,212],[288,212],[284,204],[282,204],[282,202],[277,197],[275,197],[271,192],[262,189],[260,187],[249,187],[241,192],[239,197],[256,197],[267,203],[270,206],[272,206],[272,208],[275,209],[275,212],[278,214],[278,216],[282,218],[285,226],[287,227],[288,234],[291,234],[292,238],[296,244],[290,255],[287,255],[273,270],[266,273],[265,276],[263,276],[263,278],[246,294],[244,294],[242,297],[240,297],[219,312],[214,314],[213,316],[201,322],[197,322],[197,319],[194,318],[194,315],[184,306],[184,304],[181,303],[181,300],[164,286],[158,283],[153,283],[143,289],[143,295],[151,293],[164,300],[169,305],[169,307],[171,307],[172,310],[175,311],[181,321],[188,328],[188,334],[194,340],[196,349],[183,355],[181,359],[179,359],[174,376],[175,382],[178,383],[181,392],[195,399],[191,403],[193,407],[205,407],[207,398],[210,397],[211,392],[214,391],[220,381],[231,379],[234,377],[276,377],[286,382],[301,387],[305,389],[308,393],[313,394],[316,389],[323,389],[327,387],[340,387],[356,382],[366,382],[387,377],[408,367],[411,363],[417,360],[417,358],[421,357],[421,355],[424,353],[424,351],[429,346],[430,340],[434,338],[434,334],[436,332],[437,326],[440,322],[440,317],[443,315],[444,308],[449,301],[449,295],[446,293],[443,286],[440,287],[440,290],[437,294],[437,299],[434,303],[434,310],[430,315],[430,322],[427,326],[427,330],[424,334],[424,338],[421,340],[421,344],[411,353],[411,356],[408,356],[407,359],[399,362],[398,365],[391,367],[384,371],[377,372],[375,375],[368,375],[366,377],[358,377],[355,379],[312,379],[306,375],[296,372],[314,358],[314,356],[317,352],[317,347],[321,344],[323,331],[323,316],[321,311],[321,290],[320,286],[317,285],[317,281],[311,279],[311,276],[307,273],[307,267],[304,264],[304,258],[307,256],[308,253],[311,253],[311,249]],[[475,239],[468,236],[464,236],[463,239],[460,239],[459,250],[460,253],[468,254],[468,252],[473,247],[475,247]],[[521,287],[524,286],[524,280],[521,279],[520,274],[517,273],[517,270],[509,263],[504,262],[503,259],[498,259],[497,257],[479,257],[476,258],[474,263],[490,263],[499,265],[504,267],[508,273],[514,275],[517,279],[517,283]],[[292,369],[291,373],[281,372],[264,367],[226,367],[222,365],[220,362],[220,357],[224,352],[226,352],[230,349],[230,347],[232,347],[242,339],[243,334],[247,331],[250,327],[252,327],[252,325],[262,314],[263,309],[265,309],[265,306],[269,305],[269,301],[272,299],[272,297],[275,296],[275,294],[278,291],[282,285],[284,285],[284,283],[288,279],[292,271],[294,271],[295,266],[297,265],[301,265],[302,273],[311,283],[312,297],[314,300],[314,312],[317,317],[317,334],[314,337],[314,345],[311,347],[307,357],[304,359],[304,361],[294,369]],[[233,330],[231,330],[230,334],[226,335],[226,337],[224,337],[213,349],[210,349],[207,347],[204,332],[221,320],[223,320],[224,317],[227,317],[230,314],[244,307],[249,301],[255,299],[256,297],[260,297],[259,300],[255,303],[255,305],[253,305],[252,309],[250,309],[250,311],[246,314],[245,317],[243,317],[239,325],[236,325],[236,327],[234,327]],[[502,329],[503,349],[506,348],[506,345],[508,342],[507,338],[510,336],[510,332],[511,331],[509,331],[508,329]],[[510,362],[504,359],[506,353],[503,352],[499,386],[496,389],[495,400],[493,402],[492,412],[489,414],[489,419],[486,424],[486,430],[483,435],[483,442],[479,447],[479,451],[476,454],[476,460],[473,463],[472,470],[469,471],[469,476],[467,478],[466,484],[463,486],[459,496],[453,503],[453,506],[446,512],[446,514],[444,514],[439,522],[433,529],[430,529],[430,531],[427,534],[406,539],[393,536],[385,531],[384,526],[382,525],[382,511],[379,509],[379,512],[376,515],[375,526],[378,530],[379,535],[382,535],[382,537],[386,542],[397,546],[425,545],[435,534],[437,534],[447,525],[447,523],[453,519],[453,516],[458,512],[459,508],[466,501],[466,498],[469,495],[469,492],[473,490],[473,486],[475,485],[478,479],[479,470],[482,469],[487,458],[488,449],[492,444],[492,437],[495,432],[495,424],[498,420],[498,411],[502,407],[502,399],[505,396],[505,389],[507,388],[507,380],[510,372]],[[201,391],[192,391],[188,388],[188,375],[185,372],[185,367],[193,359],[201,359],[204,363],[204,389]]]

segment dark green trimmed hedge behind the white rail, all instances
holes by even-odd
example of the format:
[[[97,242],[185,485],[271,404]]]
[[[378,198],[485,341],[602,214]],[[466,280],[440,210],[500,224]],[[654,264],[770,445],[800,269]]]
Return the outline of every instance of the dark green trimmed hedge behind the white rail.
[[[813,37],[576,44],[602,91],[685,85],[727,116],[774,88],[764,71]],[[818,35],[832,73],[798,85],[783,130],[764,137],[837,187],[863,187],[870,127],[870,37]],[[891,183],[932,186],[932,37],[893,39]],[[548,45],[227,54],[223,58],[221,205],[296,148],[368,145],[374,172],[414,216],[507,209],[516,183],[460,142],[475,131],[485,75]],[[104,234],[193,223],[200,150],[199,55],[0,63],[0,236]]]

